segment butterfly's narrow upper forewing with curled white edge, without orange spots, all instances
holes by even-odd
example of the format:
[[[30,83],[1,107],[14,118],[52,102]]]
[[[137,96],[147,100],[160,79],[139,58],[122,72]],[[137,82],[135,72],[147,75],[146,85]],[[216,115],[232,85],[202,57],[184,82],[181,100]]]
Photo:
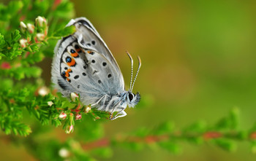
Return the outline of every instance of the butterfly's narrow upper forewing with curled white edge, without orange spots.
[[[75,20],[71,20],[68,25],[75,25],[76,32],[73,36],[78,39],[80,47],[83,47],[85,50],[94,50],[110,61],[118,74],[121,89],[124,89],[124,77],[121,74],[118,63],[116,63],[116,60],[108,49],[107,44],[105,44],[101,36],[99,36],[94,25],[92,25],[85,17],[78,17]]]

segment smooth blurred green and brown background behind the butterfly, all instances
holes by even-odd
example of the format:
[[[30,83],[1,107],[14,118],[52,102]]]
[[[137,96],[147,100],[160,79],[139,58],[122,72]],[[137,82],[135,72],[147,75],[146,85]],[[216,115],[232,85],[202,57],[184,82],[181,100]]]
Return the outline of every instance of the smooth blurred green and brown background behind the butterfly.
[[[241,110],[241,127],[252,127],[256,121],[256,1],[73,2],[76,17],[91,20],[108,44],[127,87],[130,61],[125,50],[134,57],[135,68],[136,56],[142,60],[134,92],[141,93],[146,106],[127,109],[127,117],[105,123],[105,136],[152,128],[166,120],[178,128],[201,119],[213,124],[233,107]],[[50,63],[50,59],[41,63],[48,83]],[[181,142],[181,146],[181,155],[154,148],[140,152],[114,148],[113,158],[106,160],[256,160],[246,142],[238,142],[233,153],[211,145]],[[0,155],[25,152],[8,147],[11,150]]]

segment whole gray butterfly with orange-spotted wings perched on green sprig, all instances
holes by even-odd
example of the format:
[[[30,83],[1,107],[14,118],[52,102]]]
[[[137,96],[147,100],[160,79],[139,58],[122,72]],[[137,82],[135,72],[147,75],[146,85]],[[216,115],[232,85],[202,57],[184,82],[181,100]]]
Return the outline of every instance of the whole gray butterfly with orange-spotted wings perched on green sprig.
[[[131,74],[129,90],[124,88],[124,77],[115,58],[89,20],[78,17],[67,26],[74,25],[75,33],[59,40],[54,49],[52,82],[65,97],[79,93],[80,101],[99,111],[110,112],[110,119],[124,117],[124,109],[140,101],[139,93],[132,93],[138,71]],[[133,60],[127,52],[132,64]],[[132,80],[133,79],[133,80]],[[117,112],[113,116],[113,112]]]

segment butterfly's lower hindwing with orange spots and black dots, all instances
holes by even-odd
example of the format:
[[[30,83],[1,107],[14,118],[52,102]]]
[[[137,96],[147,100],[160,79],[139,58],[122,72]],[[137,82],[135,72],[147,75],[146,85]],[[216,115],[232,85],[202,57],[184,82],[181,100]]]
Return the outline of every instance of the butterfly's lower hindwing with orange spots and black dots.
[[[91,104],[103,95],[123,92],[120,72],[99,52],[80,47],[71,35],[59,40],[52,64],[52,81],[60,92],[80,93],[83,103]]]

